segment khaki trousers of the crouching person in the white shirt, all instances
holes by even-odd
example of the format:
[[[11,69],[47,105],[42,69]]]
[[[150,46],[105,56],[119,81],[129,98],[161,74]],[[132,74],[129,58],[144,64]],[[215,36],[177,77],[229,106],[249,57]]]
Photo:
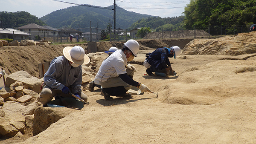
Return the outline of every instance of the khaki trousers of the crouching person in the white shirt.
[[[126,69],[126,73],[127,73],[127,75],[130,75],[130,76],[134,75],[134,71],[130,70],[130,69]],[[119,77],[109,78],[108,81],[104,81],[104,82],[99,81],[99,84],[102,86],[102,88],[124,86],[126,90],[131,89],[131,85],[125,83]]]

